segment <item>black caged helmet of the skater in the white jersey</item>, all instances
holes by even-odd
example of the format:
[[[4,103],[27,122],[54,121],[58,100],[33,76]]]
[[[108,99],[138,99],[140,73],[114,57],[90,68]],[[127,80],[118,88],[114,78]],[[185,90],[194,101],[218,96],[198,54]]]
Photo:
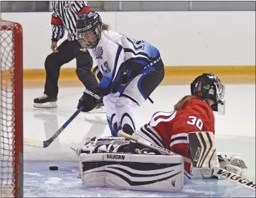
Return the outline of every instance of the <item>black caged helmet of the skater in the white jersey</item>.
[[[93,49],[100,41],[103,23],[95,11],[82,13],[77,19],[77,39],[83,49]]]

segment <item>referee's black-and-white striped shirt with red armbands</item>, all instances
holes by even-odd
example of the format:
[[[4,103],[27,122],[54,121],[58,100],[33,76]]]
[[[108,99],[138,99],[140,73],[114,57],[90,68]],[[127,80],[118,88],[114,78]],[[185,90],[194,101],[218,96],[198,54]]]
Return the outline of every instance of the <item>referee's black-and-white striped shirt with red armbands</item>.
[[[87,1],[52,1],[52,41],[62,39],[65,29],[69,41],[77,40],[75,26],[85,11],[91,11]]]

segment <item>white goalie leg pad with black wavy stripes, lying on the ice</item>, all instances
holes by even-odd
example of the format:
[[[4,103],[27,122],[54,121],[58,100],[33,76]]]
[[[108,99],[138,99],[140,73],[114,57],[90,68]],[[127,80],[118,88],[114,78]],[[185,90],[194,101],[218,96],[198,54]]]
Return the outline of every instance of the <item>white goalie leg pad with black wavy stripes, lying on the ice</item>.
[[[146,154],[80,154],[80,175],[85,187],[181,191],[184,159]]]

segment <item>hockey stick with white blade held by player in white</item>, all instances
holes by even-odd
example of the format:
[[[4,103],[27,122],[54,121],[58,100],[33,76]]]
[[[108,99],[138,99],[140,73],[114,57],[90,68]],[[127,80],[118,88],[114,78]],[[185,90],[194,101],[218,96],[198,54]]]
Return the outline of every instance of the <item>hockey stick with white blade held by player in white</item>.
[[[50,137],[49,139],[47,139],[45,141],[39,141],[39,140],[24,138],[24,145],[33,146],[33,147],[41,147],[41,148],[49,147],[49,144],[52,144],[54,139],[56,139],[60,135],[60,133],[70,124],[70,122],[72,122],[72,120],[75,119],[75,117],[77,117],[77,115],[82,111],[82,109],[83,109],[83,107],[80,107],[79,109],[77,109],[77,111],[75,111],[75,113],[72,114],[70,119],[68,119],[67,122],[65,122],[62,125],[62,127],[60,127],[60,129],[57,130],[57,132],[54,133],[52,135],[52,137]]]

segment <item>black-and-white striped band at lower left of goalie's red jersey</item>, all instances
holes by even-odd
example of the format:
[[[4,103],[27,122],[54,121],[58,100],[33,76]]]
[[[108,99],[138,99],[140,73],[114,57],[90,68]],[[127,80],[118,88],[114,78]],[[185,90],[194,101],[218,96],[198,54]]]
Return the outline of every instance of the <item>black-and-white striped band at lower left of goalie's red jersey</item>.
[[[137,134],[143,134],[143,137],[148,137],[151,139],[151,142],[154,142],[156,145],[158,145],[158,147],[166,148],[158,132],[156,132],[153,127],[148,126],[148,124],[145,124],[143,127],[141,127],[141,130],[137,132]]]

